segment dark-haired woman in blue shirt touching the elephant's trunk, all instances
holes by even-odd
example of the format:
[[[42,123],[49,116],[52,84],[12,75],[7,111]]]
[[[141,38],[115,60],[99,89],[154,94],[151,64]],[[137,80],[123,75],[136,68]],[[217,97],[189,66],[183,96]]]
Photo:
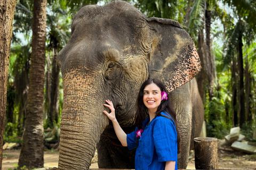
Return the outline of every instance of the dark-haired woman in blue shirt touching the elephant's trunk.
[[[103,111],[112,121],[116,135],[123,146],[135,149],[135,169],[177,170],[177,153],[180,152],[180,136],[177,131],[176,114],[163,83],[157,79],[145,81],[137,98],[134,132],[127,134],[115,117],[112,101]]]

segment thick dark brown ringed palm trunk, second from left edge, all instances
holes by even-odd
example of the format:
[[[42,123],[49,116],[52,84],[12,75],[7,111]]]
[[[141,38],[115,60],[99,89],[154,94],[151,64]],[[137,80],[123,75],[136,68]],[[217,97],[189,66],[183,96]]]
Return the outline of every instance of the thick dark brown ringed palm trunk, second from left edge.
[[[34,1],[31,70],[28,92],[27,119],[20,152],[19,166],[44,166],[43,117],[44,69],[46,40],[46,0]]]

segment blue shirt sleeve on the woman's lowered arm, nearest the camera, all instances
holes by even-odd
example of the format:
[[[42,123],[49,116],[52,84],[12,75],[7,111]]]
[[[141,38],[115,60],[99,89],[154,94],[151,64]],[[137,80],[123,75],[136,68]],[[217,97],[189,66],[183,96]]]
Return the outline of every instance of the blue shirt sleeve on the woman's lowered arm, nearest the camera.
[[[153,130],[158,162],[177,161],[177,131],[169,118],[159,118]]]

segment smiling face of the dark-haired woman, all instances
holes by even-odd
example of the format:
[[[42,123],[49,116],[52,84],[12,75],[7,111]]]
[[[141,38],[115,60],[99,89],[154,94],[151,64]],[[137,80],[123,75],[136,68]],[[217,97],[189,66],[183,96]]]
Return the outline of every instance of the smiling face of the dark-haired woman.
[[[161,90],[155,83],[148,84],[143,90],[143,103],[151,113],[156,113],[161,98]]]

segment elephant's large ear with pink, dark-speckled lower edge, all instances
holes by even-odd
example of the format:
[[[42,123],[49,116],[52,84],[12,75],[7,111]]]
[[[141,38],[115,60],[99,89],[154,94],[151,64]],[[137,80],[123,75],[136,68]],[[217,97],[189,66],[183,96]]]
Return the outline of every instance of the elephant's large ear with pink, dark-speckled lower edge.
[[[174,20],[147,19],[153,40],[149,62],[151,78],[163,78],[170,92],[200,71],[200,60],[195,44],[181,25]]]

